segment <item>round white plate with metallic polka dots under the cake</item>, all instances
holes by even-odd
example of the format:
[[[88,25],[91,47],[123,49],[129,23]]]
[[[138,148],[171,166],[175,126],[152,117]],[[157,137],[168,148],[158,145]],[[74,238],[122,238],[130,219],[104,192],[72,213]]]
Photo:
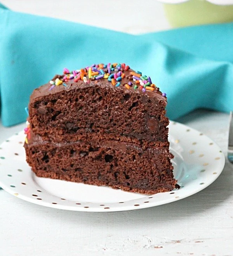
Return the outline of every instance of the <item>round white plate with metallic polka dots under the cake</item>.
[[[169,125],[174,175],[180,189],[156,195],[129,193],[38,178],[25,161],[24,134],[16,133],[0,146],[0,186],[28,202],[57,209],[110,212],[147,208],[174,202],[206,188],[221,174],[225,158],[215,142],[183,124]],[[0,192],[1,193],[1,192]]]

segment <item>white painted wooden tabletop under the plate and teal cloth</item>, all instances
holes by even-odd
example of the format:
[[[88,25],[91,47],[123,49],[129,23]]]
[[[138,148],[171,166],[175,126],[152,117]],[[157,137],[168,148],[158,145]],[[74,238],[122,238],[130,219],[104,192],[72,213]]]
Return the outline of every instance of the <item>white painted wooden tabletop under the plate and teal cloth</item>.
[[[90,13],[94,17],[85,17],[73,8],[59,12],[65,3],[71,5],[75,1],[53,2],[56,4],[44,0],[2,0],[3,4],[14,10],[54,17],[61,14],[60,18],[98,26],[103,26],[103,19],[109,17],[103,9],[106,9],[106,3],[110,1],[98,1],[100,12],[97,14],[99,17],[103,15],[99,20],[93,7],[90,7]],[[92,0],[82,1],[78,6],[87,6],[87,3],[91,6],[92,2],[96,3]],[[120,12],[117,7],[123,2],[129,6],[134,2],[133,10],[139,6],[150,14],[153,13],[153,16],[149,20],[144,19],[144,15],[141,18],[134,16],[132,20],[130,11],[122,9]],[[108,23],[108,28],[130,33],[169,28],[163,16],[162,5],[154,3],[153,0],[120,0],[115,3],[117,14],[114,12],[113,18],[119,15],[129,17],[126,17],[126,23],[117,27]],[[177,121],[205,133],[219,144],[226,155],[227,114],[196,110]],[[0,125],[0,142],[23,128],[24,124],[11,128]],[[0,190],[0,254],[233,256],[233,165],[226,161],[220,177],[193,196],[167,205],[126,212],[86,213],[57,210],[25,202]]]

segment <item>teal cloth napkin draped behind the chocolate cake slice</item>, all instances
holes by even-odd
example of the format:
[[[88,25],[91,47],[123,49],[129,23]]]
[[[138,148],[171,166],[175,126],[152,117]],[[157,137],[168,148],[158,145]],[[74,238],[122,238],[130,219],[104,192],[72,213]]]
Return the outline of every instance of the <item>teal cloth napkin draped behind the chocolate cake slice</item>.
[[[0,97],[5,126],[26,120],[33,89],[63,68],[124,62],[167,93],[176,119],[233,109],[233,23],[129,35],[0,9]]]

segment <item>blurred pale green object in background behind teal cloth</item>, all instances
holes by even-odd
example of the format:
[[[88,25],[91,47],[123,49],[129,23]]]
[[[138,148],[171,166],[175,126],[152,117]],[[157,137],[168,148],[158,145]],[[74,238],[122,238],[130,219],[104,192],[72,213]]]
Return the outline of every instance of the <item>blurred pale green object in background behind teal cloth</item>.
[[[172,27],[233,21],[233,5],[215,5],[206,0],[164,4],[164,9]]]

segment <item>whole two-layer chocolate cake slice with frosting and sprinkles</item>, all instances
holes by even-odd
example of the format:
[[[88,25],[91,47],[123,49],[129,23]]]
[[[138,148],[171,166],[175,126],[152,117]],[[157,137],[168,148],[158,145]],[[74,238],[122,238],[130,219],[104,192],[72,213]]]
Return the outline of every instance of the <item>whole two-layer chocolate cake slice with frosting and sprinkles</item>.
[[[166,94],[124,63],[64,68],[35,89],[25,129],[39,177],[154,194],[176,188]]]

